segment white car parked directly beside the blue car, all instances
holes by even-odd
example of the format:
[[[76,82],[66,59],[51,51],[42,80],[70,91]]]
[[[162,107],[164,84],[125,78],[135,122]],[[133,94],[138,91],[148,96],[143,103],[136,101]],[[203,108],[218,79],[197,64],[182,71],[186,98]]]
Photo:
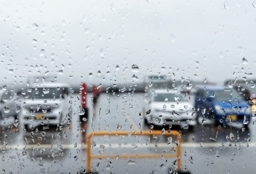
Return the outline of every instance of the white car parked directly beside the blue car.
[[[192,128],[196,125],[193,100],[179,91],[153,90],[144,107],[144,119],[155,126],[180,125]]]

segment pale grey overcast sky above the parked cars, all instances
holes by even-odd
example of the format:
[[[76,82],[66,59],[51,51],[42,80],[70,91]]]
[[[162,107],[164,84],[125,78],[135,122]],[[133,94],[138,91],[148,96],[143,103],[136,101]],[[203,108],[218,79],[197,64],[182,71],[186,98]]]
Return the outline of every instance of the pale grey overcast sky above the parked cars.
[[[254,79],[255,18],[253,0],[2,0],[0,80],[57,76],[79,84],[90,72],[94,84],[158,72],[218,84]]]

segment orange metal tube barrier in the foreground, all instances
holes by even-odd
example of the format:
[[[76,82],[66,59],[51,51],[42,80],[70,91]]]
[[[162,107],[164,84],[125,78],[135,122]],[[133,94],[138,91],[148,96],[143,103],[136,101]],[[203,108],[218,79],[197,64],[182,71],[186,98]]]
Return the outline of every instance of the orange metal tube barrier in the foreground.
[[[88,139],[87,139],[87,171],[90,172],[91,171],[91,160],[92,158],[107,158],[108,156],[110,158],[116,158],[116,155],[93,155],[91,154],[91,148],[90,148],[90,144],[92,142],[92,136],[98,135],[98,136],[104,136],[104,135],[128,135],[128,133],[130,134],[130,131],[95,131],[95,132],[90,132],[88,134]],[[169,157],[169,158],[175,158],[177,157],[177,168],[178,170],[181,170],[181,143],[182,143],[182,136],[180,136],[180,132],[178,131],[171,131],[170,133],[168,133],[168,131],[165,131],[164,134],[162,134],[162,131],[133,131],[130,135],[142,135],[142,136],[147,136],[147,135],[163,135],[163,136],[176,136],[178,137],[177,140],[180,141],[178,147],[177,147],[177,153],[176,154],[158,154],[156,156],[156,154],[122,154],[119,155],[120,158],[161,158],[162,156],[164,157]]]

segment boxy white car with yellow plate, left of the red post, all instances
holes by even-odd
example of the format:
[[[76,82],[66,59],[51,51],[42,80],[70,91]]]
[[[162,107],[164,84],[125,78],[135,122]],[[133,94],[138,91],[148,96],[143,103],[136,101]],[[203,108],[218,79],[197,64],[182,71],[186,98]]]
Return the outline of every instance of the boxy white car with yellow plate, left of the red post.
[[[72,103],[68,84],[40,84],[22,91],[23,107],[20,111],[22,129],[47,129],[70,124]]]

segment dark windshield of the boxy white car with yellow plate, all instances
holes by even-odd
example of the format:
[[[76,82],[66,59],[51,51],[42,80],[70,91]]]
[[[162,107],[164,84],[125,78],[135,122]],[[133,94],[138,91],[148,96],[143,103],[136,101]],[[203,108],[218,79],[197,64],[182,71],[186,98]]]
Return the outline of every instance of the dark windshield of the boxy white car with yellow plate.
[[[36,99],[53,98],[54,96],[55,98],[62,98],[65,91],[63,88],[38,88],[38,90],[32,90],[30,97],[36,97]]]

